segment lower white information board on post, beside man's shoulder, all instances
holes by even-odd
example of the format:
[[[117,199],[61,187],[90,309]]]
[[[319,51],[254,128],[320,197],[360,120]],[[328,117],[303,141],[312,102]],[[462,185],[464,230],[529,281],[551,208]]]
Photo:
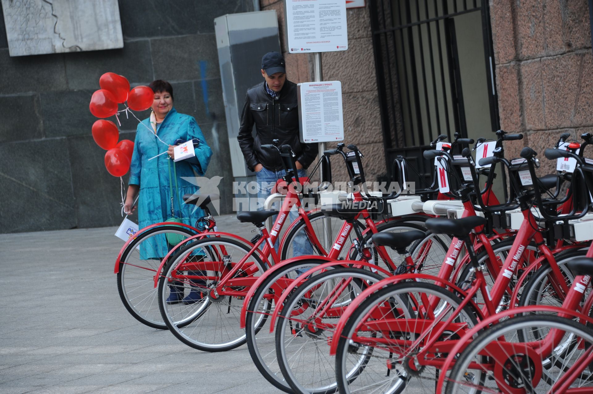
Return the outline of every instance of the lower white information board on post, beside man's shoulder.
[[[342,82],[298,84],[301,142],[329,142],[344,139]]]

